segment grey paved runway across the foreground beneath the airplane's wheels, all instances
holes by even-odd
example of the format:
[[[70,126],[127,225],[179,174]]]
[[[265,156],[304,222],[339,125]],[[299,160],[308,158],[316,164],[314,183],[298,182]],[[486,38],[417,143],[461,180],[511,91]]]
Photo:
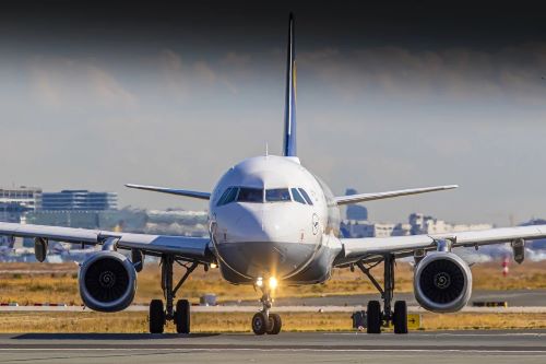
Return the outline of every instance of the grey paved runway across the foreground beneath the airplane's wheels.
[[[545,363],[546,330],[366,334],[26,333],[0,336],[0,363]]]

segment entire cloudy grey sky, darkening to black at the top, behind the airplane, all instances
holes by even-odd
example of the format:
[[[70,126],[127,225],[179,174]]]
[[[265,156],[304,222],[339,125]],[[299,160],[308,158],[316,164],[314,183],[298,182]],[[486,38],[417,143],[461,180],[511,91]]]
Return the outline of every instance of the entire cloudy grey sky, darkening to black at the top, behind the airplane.
[[[3,2],[0,186],[206,209],[123,184],[210,191],[281,153],[289,11],[298,153],[334,193],[458,184],[370,219],[546,218],[546,23],[525,2]]]

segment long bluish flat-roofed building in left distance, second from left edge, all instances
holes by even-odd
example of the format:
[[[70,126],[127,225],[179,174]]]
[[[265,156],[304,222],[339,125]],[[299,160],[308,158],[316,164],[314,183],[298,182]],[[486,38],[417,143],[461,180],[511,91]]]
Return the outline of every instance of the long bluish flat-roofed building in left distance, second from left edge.
[[[117,192],[92,192],[88,190],[62,190],[43,192],[37,210],[45,211],[106,211],[117,210]]]

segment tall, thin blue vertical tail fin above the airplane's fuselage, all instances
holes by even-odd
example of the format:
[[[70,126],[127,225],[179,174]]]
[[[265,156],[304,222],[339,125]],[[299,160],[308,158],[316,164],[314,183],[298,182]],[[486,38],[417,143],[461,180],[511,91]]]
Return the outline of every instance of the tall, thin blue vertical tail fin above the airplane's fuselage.
[[[294,49],[294,15],[292,13],[288,21],[283,155],[296,156],[296,55]]]

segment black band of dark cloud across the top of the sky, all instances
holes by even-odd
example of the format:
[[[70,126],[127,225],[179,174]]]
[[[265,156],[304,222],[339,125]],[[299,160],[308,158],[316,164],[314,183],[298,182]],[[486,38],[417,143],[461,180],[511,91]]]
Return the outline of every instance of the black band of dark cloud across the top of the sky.
[[[0,38],[88,49],[192,44],[195,51],[284,39],[294,11],[302,47],[487,48],[544,40],[539,2],[21,1],[0,5]]]

